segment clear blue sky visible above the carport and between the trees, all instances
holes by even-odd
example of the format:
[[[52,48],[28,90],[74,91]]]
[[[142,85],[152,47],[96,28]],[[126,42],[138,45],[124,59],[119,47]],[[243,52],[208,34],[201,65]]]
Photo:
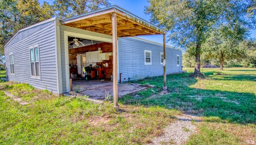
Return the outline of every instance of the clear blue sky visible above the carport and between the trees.
[[[49,2],[52,4],[52,0],[39,0],[40,4],[43,3],[43,1]],[[112,5],[117,5],[125,10],[128,10],[132,14],[150,22],[150,16],[146,15],[144,13],[145,6],[148,6],[149,3],[147,0],[110,0],[109,1]],[[251,32],[252,38],[256,38],[256,30],[253,30]],[[158,42],[163,44],[163,36],[162,35],[156,35],[156,36],[141,36],[140,38],[144,38],[146,40],[151,40],[154,42]],[[167,45],[171,45],[170,42],[167,42]]]

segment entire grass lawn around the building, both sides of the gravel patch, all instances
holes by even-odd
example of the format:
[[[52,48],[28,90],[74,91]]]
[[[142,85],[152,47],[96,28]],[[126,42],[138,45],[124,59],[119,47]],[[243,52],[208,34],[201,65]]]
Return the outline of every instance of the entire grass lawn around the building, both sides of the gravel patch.
[[[29,105],[19,105],[0,91],[0,144],[148,144],[180,112],[199,115],[188,145],[256,144],[256,69],[203,70],[205,79],[187,73],[136,81],[156,85],[112,104],[95,105],[86,96],[56,97],[27,84],[0,82]],[[1,73],[1,72],[0,72]]]

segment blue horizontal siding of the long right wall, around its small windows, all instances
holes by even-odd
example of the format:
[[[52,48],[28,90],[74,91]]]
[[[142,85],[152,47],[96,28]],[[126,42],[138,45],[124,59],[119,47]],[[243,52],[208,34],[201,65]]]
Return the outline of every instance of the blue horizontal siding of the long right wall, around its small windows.
[[[152,64],[144,64],[144,50],[150,50]],[[145,77],[159,76],[164,74],[163,65],[160,62],[160,53],[163,46],[156,43],[141,40],[139,38],[118,39],[118,62],[121,81],[143,79]],[[176,65],[176,55],[180,55],[180,66]],[[166,47],[166,73],[181,71],[182,51]]]

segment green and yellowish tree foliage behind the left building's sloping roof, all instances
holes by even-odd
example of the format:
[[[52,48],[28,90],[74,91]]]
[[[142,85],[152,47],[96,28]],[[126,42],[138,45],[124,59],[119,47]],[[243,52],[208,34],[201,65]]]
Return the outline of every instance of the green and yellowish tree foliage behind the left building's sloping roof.
[[[54,0],[53,3],[0,0],[0,62],[4,59],[4,45],[18,30],[54,16],[68,18],[110,5],[108,0]]]

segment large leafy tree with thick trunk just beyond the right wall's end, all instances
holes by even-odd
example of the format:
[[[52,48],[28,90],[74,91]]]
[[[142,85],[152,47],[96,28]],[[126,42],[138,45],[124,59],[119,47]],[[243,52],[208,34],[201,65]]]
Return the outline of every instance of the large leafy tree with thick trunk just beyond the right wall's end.
[[[236,21],[229,20],[231,15],[246,17],[247,9],[253,1],[148,0],[150,6],[146,6],[146,14],[151,14],[151,22],[170,31],[168,40],[175,46],[184,49],[191,45],[195,46],[194,74],[196,74],[200,73],[201,45],[208,38],[211,30],[222,23],[234,24]],[[243,20],[248,25],[252,24],[249,18]]]

